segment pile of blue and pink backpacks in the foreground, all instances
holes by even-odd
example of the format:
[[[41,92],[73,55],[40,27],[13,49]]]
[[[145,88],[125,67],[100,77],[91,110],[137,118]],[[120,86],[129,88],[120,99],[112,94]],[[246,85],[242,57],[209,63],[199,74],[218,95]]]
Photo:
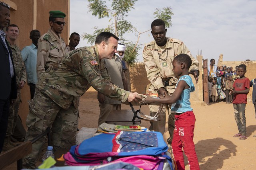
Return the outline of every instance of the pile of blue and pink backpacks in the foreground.
[[[124,162],[144,170],[174,170],[167,150],[160,132],[117,131],[86,139],[72,146],[63,158],[70,166],[96,167]]]

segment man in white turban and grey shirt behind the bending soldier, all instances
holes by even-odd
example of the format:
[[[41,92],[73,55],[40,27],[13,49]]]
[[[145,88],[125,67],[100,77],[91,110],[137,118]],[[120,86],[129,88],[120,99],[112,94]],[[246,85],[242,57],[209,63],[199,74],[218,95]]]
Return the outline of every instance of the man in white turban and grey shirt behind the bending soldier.
[[[122,58],[124,57],[124,51],[126,46],[124,44],[118,43],[117,53],[112,57],[112,59],[102,59],[105,63],[105,66],[108,70],[111,82],[128,90],[126,87],[126,78],[124,76],[124,69],[122,66]],[[105,122],[106,118],[112,110],[120,110],[121,102],[118,100],[110,99],[103,94],[98,92],[98,101],[100,106],[100,116],[98,119],[98,126]]]

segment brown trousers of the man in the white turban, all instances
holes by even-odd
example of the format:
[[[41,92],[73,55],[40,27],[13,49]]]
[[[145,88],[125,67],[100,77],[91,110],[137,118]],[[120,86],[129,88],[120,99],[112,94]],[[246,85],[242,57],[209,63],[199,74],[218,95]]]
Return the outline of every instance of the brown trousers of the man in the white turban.
[[[98,120],[98,126],[105,122],[108,115],[112,110],[121,110],[121,104],[99,104],[100,115]]]

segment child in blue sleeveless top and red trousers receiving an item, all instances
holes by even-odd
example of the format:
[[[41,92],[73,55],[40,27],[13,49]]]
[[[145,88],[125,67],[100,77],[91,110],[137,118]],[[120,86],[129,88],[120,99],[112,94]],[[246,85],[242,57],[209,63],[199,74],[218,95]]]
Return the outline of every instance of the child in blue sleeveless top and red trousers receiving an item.
[[[175,111],[175,129],[172,139],[172,151],[179,170],[185,169],[183,150],[188,157],[188,164],[191,170],[200,170],[198,158],[196,156],[194,138],[194,127],[196,117],[190,107],[190,92],[194,92],[195,87],[188,69],[191,66],[191,59],[186,54],[177,55],[173,62],[172,71],[176,76],[181,76],[175,86],[172,96],[154,99],[147,97],[141,104],[159,103],[172,104],[172,111]]]

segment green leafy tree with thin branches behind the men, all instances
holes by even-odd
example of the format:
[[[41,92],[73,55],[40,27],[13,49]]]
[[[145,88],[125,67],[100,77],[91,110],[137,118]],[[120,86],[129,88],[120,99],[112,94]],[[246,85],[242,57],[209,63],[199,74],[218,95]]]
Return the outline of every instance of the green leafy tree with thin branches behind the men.
[[[110,1],[110,0],[109,0]],[[96,36],[102,31],[108,31],[114,33],[116,36],[119,37],[120,41],[126,44],[126,51],[124,56],[124,61],[128,64],[134,64],[136,62],[136,58],[138,57],[138,51],[141,48],[141,45],[138,43],[140,39],[140,35],[147,31],[140,32],[138,31],[130,21],[126,20],[128,16],[128,12],[134,9],[134,5],[137,0],[112,0],[112,3],[108,3],[106,5],[106,0],[88,0],[89,5],[88,9],[89,12],[92,12],[93,16],[98,16],[98,18],[109,18],[109,24],[106,28],[99,29],[97,26],[94,27],[94,31],[92,34],[83,33],[82,38],[87,39],[88,43],[93,44],[95,41]],[[162,19],[166,22],[166,27],[170,27],[171,19],[172,19],[172,9],[170,7],[163,8],[164,11],[156,8],[156,15],[157,18]],[[166,15],[164,14],[166,12]],[[155,18],[156,18],[155,17]],[[128,41],[125,39],[124,34],[130,32],[136,32],[137,41],[136,43],[132,41]]]

